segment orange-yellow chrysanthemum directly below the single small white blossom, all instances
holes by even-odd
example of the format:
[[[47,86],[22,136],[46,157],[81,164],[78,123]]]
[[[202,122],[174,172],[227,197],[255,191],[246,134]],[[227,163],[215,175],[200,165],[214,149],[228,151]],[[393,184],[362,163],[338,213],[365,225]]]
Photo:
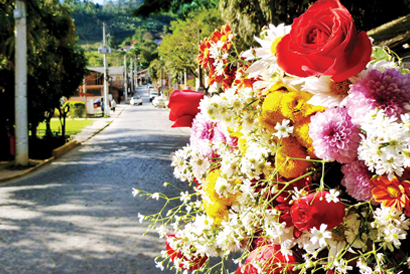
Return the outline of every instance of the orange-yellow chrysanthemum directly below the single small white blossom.
[[[302,145],[294,137],[283,138],[281,145],[275,159],[278,173],[287,179],[306,173],[306,169],[312,166],[311,162],[291,160],[286,157],[305,159],[307,153]]]

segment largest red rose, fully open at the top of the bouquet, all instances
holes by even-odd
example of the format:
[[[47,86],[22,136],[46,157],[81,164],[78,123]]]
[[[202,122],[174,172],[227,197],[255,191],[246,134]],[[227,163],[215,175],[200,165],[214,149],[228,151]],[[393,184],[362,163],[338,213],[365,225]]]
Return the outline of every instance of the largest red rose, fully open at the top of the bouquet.
[[[366,32],[357,33],[349,11],[339,0],[319,0],[293,21],[276,47],[278,65],[299,77],[330,75],[341,82],[362,71],[372,46]]]

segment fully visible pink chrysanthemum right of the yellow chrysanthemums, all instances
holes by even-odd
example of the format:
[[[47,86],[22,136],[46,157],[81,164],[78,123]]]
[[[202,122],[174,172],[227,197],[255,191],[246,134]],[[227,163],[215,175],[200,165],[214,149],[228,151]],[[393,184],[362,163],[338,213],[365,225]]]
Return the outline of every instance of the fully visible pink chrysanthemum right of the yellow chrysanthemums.
[[[316,156],[340,163],[350,163],[356,158],[359,133],[345,108],[328,108],[316,113],[309,125]]]

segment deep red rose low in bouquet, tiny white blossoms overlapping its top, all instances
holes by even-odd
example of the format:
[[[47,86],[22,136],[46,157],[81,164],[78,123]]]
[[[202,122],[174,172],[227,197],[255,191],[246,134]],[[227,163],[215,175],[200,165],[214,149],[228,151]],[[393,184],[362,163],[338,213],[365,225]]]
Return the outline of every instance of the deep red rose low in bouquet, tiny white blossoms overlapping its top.
[[[345,206],[340,200],[337,203],[328,203],[325,198],[328,193],[319,191],[295,201],[290,214],[297,229],[310,231],[314,227],[319,229],[321,224],[326,224],[326,229],[330,230],[343,222]]]

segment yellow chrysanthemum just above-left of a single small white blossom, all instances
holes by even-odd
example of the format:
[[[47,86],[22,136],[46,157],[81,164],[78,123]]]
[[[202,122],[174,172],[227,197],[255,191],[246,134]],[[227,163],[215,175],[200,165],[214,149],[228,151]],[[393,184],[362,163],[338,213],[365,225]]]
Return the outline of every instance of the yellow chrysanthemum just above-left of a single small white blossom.
[[[272,132],[276,132],[275,126],[277,123],[282,123],[285,119],[281,112],[281,101],[283,96],[287,94],[286,90],[276,90],[266,96],[262,105],[262,114],[259,116],[260,123]]]

